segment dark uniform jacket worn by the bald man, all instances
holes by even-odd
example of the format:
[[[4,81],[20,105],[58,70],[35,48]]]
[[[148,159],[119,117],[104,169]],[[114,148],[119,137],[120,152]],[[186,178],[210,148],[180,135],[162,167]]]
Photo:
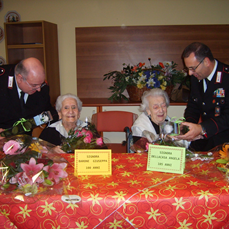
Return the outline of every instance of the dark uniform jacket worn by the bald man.
[[[20,120],[20,118],[33,118],[43,111],[50,111],[53,119],[58,120],[58,114],[51,106],[49,86],[45,85],[40,92],[28,96],[23,117],[20,99],[14,76],[15,65],[0,66],[0,128],[6,129]],[[8,87],[8,77],[13,76],[13,87]]]

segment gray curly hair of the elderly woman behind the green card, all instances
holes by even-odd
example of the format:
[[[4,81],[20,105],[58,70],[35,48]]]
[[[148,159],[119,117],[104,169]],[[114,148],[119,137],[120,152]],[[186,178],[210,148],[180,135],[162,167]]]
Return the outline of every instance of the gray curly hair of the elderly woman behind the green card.
[[[160,88],[153,88],[149,91],[145,91],[142,95],[142,104],[140,105],[139,111],[141,112],[146,112],[146,109],[149,108],[149,101],[148,101],[148,97],[152,96],[152,97],[157,97],[157,96],[162,96],[165,98],[165,103],[166,106],[169,107],[169,96],[167,94],[167,92],[163,91]]]

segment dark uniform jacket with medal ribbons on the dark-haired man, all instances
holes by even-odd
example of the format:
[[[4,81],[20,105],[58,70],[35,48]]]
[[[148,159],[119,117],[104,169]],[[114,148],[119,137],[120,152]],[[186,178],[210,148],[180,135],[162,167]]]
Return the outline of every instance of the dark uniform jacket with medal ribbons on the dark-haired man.
[[[185,110],[188,122],[198,123],[207,132],[203,140],[196,140],[191,147],[197,151],[209,151],[229,142],[229,66],[218,61],[216,72],[203,91],[203,80],[191,76],[191,94]]]

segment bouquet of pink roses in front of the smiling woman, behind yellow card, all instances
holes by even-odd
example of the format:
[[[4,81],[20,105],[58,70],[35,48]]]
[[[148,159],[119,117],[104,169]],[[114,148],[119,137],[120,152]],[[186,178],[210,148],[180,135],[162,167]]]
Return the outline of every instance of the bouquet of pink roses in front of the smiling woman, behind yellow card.
[[[103,139],[97,133],[93,124],[87,127],[70,130],[68,137],[63,140],[61,149],[66,153],[74,153],[75,149],[105,148]]]

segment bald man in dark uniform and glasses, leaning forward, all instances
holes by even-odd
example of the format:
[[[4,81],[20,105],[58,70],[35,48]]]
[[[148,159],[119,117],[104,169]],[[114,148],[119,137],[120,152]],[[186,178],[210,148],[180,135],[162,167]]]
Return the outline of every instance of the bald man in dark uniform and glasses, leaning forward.
[[[0,132],[21,118],[30,119],[43,111],[50,111],[54,121],[58,120],[42,63],[30,57],[16,66],[0,66]]]

